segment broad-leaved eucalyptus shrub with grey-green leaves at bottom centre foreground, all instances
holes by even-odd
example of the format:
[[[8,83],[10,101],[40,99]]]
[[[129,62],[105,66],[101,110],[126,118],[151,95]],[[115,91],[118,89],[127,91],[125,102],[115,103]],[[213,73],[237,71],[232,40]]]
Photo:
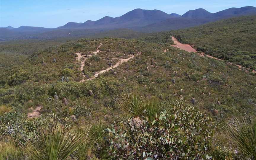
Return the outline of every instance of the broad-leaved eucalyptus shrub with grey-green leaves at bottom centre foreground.
[[[211,159],[209,117],[183,102],[170,112],[153,121],[141,116],[142,125],[132,117],[108,128],[109,152],[119,159]]]

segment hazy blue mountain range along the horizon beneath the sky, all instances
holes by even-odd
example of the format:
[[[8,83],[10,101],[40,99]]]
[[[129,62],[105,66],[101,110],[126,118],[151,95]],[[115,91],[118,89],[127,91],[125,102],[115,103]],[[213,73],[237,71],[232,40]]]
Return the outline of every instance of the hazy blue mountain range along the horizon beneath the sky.
[[[256,8],[246,6],[229,8],[220,12],[210,13],[205,9],[190,10],[183,15],[167,14],[160,10],[134,9],[120,17],[105,16],[97,21],[87,20],[84,23],[68,22],[57,28],[20,26],[18,28],[0,27],[1,40],[16,38],[41,38],[41,35],[52,38],[74,36],[72,32],[98,33],[116,29],[131,29],[139,32],[158,32],[193,27],[219,19],[256,14]],[[80,31],[77,31],[80,30]],[[49,34],[48,34],[49,33]],[[52,34],[54,33],[54,34]],[[61,33],[58,35],[58,33]],[[64,33],[64,34],[63,34]],[[47,36],[48,35],[48,36]],[[79,34],[77,34],[79,35]]]

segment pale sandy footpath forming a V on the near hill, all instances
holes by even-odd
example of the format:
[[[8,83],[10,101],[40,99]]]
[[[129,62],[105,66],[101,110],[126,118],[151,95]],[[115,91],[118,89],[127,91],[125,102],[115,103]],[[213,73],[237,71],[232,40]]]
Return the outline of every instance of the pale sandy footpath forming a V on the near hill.
[[[96,50],[96,51],[93,51],[93,52],[92,52],[92,53],[94,53],[94,55],[97,54],[97,53],[102,52],[102,51],[99,49],[101,45],[102,45],[102,43],[100,43],[100,45],[97,47],[97,50]],[[120,54],[120,53],[118,53],[118,52],[110,52],[110,53],[117,53],[117,54]],[[140,54],[140,53],[138,53],[138,54]],[[85,57],[84,55],[82,55],[82,53],[76,53],[76,55],[77,55],[76,59],[81,62],[80,71],[83,71],[83,70],[84,70],[84,66],[85,66],[85,61],[86,61],[89,57],[91,57],[92,55],[87,55],[87,57]],[[80,60],[82,57],[84,57],[84,60]],[[129,58],[126,58],[126,59],[115,58],[115,59],[118,59],[118,60],[119,60],[115,65],[113,65],[113,66],[111,66],[111,67],[109,67],[109,68],[107,68],[107,69],[104,69],[104,70],[95,72],[94,76],[91,77],[90,79],[87,79],[86,75],[84,75],[84,72],[82,72],[84,79],[82,79],[80,82],[84,82],[84,81],[89,81],[89,80],[95,79],[95,78],[97,78],[100,74],[103,74],[103,73],[105,73],[105,72],[107,72],[107,71],[110,71],[111,69],[118,67],[119,65],[121,65],[121,64],[124,63],[124,62],[128,62],[130,59],[132,59],[132,58],[134,58],[134,57],[135,57],[135,55],[130,55]]]

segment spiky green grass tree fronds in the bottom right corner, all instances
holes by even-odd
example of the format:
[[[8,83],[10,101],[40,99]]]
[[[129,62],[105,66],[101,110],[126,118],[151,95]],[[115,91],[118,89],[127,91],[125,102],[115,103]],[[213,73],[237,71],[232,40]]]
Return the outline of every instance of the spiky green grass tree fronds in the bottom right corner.
[[[256,118],[234,118],[229,123],[228,135],[239,158],[256,160]]]

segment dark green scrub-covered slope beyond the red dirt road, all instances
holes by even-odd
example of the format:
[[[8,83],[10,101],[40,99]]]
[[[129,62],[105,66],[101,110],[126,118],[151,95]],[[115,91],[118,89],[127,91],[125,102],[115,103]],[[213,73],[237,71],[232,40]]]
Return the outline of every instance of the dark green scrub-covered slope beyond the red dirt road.
[[[256,69],[256,16],[225,19],[195,28],[171,31],[181,43],[241,66]]]

